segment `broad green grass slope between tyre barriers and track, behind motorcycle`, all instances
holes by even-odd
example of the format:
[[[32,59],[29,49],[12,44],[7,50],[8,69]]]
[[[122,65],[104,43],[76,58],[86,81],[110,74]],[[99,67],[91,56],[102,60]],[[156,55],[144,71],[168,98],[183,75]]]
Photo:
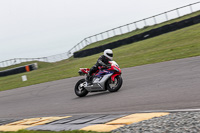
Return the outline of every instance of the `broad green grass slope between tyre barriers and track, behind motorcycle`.
[[[114,60],[121,68],[199,56],[200,24],[125,45],[113,51]],[[41,66],[38,70],[0,77],[0,91],[78,76],[79,68],[90,68],[100,55],[70,58],[57,63],[38,62]],[[28,81],[22,82],[22,75],[27,75]]]

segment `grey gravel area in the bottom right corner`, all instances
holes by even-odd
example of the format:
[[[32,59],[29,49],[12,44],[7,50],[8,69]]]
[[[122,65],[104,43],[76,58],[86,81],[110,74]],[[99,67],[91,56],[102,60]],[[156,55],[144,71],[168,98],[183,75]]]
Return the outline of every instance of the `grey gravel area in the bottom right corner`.
[[[170,113],[118,128],[112,133],[200,133],[200,112]]]

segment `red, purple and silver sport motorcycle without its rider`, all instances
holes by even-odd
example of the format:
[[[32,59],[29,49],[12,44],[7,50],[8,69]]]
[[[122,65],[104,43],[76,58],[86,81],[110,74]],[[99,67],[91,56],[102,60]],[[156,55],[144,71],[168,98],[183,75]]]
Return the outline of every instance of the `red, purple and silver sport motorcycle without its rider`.
[[[109,61],[109,67],[99,67],[93,74],[92,84],[86,82],[86,78],[80,79],[74,88],[75,94],[79,97],[86,96],[89,92],[118,91],[123,83],[121,69],[115,61]],[[90,69],[80,68],[79,75],[88,75]]]

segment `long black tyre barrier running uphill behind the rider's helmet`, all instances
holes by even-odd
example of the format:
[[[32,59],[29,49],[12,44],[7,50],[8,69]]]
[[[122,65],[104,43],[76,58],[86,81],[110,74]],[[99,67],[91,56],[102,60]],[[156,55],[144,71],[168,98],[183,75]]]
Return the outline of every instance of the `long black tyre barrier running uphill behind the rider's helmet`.
[[[138,41],[142,41],[148,38],[152,38],[155,36],[159,36],[168,32],[172,32],[175,30],[179,30],[194,24],[200,23],[200,15],[189,18],[189,19],[185,19],[182,20],[180,22],[175,22],[172,24],[168,24],[156,29],[152,29],[150,31],[146,31],[144,33],[138,34],[138,35],[134,35],[131,36],[129,38],[125,38],[122,40],[118,40],[116,42],[111,42],[102,46],[98,46],[95,48],[91,48],[91,49],[86,49],[83,51],[78,51],[74,53],[74,58],[80,58],[80,57],[86,57],[86,56],[91,56],[97,53],[101,53],[103,52],[105,49],[113,49],[113,48],[117,48],[120,47],[122,45],[127,45],[127,44],[131,44],[134,42],[138,42]]]

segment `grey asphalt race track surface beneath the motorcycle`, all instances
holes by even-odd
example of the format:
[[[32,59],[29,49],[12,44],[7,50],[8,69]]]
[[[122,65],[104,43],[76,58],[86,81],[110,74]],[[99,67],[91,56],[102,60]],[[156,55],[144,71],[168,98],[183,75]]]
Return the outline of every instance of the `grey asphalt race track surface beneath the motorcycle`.
[[[122,70],[116,93],[74,94],[83,77],[0,92],[0,118],[200,108],[200,56]],[[30,80],[30,79],[29,79]]]

